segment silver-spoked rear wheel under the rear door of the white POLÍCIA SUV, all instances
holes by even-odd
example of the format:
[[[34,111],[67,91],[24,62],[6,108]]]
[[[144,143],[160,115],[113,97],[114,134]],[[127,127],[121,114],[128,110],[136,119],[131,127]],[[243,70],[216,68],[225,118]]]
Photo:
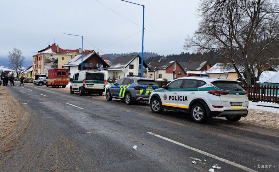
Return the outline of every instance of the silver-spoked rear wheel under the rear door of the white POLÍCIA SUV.
[[[206,110],[203,105],[196,103],[191,108],[191,116],[195,122],[202,123],[207,120]]]

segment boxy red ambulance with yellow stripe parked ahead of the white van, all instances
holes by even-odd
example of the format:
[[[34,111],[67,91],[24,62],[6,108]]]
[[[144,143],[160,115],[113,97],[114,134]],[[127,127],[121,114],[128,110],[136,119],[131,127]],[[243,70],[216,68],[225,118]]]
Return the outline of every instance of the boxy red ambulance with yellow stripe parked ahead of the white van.
[[[65,88],[69,83],[69,69],[49,69],[46,86]]]

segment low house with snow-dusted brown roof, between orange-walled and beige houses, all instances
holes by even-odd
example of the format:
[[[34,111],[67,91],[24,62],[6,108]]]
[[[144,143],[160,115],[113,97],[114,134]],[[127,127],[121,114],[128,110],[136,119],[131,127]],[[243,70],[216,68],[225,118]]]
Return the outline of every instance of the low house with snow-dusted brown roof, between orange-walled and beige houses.
[[[184,69],[186,73],[200,73],[201,71],[206,71],[212,67],[207,61],[198,61],[198,62],[179,62],[180,66]]]

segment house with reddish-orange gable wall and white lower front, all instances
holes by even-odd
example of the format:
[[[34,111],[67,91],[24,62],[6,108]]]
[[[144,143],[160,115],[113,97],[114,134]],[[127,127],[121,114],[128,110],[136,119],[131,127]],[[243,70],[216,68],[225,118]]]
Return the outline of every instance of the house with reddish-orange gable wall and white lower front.
[[[150,78],[156,79],[177,79],[186,76],[183,67],[177,61],[161,61],[150,62],[147,64],[149,70],[148,75]]]

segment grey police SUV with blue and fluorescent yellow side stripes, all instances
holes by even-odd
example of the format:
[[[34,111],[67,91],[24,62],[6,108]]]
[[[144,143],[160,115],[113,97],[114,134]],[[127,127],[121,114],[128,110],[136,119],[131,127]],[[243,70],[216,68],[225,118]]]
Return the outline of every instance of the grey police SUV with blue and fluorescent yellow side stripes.
[[[156,82],[150,78],[127,75],[121,78],[116,84],[108,86],[106,89],[106,99],[122,99],[127,105],[133,101],[149,101],[150,93],[159,88]]]

